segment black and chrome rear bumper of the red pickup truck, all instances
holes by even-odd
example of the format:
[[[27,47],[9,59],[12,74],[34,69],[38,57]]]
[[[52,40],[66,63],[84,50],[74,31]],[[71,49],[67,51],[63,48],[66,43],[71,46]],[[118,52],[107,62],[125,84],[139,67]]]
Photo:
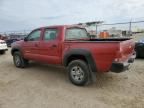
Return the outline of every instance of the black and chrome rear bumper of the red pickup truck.
[[[135,57],[136,54],[134,53],[126,62],[123,63],[113,62],[110,70],[115,73],[120,73],[128,70],[130,64],[134,62]]]

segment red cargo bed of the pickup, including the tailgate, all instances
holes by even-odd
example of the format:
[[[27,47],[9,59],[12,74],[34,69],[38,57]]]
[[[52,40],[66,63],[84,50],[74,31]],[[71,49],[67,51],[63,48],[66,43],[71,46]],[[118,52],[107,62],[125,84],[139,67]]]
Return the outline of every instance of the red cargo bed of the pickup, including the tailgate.
[[[131,38],[66,40],[65,46],[91,51],[99,72],[107,72],[116,58],[119,62],[127,61],[134,51]]]

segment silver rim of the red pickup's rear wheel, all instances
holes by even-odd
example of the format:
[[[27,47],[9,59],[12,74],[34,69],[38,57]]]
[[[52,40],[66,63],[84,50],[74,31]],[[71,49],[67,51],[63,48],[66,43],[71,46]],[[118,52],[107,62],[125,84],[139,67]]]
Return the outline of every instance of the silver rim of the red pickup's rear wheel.
[[[75,81],[81,82],[84,79],[84,71],[80,66],[74,66],[71,69],[71,76]]]

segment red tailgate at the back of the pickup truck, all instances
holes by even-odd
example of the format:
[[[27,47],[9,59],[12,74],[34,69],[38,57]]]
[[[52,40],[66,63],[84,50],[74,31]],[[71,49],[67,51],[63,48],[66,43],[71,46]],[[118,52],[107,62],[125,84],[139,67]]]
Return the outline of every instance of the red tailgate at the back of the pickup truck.
[[[132,39],[120,42],[119,47],[122,61],[129,59],[129,57],[135,53],[135,42]]]

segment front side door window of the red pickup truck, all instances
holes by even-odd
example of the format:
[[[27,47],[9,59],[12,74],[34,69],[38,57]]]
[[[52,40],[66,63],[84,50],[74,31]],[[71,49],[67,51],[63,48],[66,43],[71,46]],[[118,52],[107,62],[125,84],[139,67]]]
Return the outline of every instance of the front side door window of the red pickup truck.
[[[33,31],[29,36],[28,36],[28,41],[38,41],[40,39],[40,33],[41,30],[36,30]]]

